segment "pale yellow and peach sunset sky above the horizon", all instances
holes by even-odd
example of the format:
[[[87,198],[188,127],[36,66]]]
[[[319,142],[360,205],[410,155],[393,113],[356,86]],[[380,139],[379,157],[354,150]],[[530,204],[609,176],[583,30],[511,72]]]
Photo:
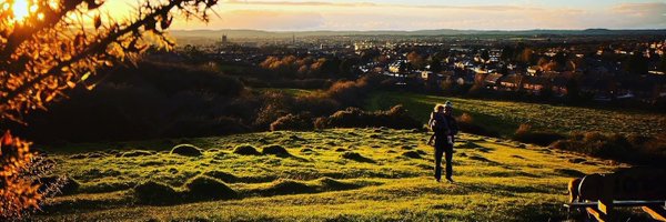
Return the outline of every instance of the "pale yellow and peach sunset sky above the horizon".
[[[125,1],[125,2],[123,2]],[[110,0],[113,11],[135,0]],[[122,11],[122,10],[119,10]],[[173,29],[666,29],[666,0],[221,0],[209,23]]]

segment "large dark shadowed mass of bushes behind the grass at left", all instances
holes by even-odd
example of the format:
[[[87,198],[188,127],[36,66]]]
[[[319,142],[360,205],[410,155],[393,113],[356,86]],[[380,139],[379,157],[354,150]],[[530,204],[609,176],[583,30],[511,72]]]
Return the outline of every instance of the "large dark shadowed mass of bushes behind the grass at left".
[[[38,143],[142,140],[246,132],[224,109],[243,97],[234,77],[188,64],[142,61],[112,69],[95,90],[74,88],[49,112],[26,117],[30,128],[12,127]],[[228,117],[228,118],[222,118]]]

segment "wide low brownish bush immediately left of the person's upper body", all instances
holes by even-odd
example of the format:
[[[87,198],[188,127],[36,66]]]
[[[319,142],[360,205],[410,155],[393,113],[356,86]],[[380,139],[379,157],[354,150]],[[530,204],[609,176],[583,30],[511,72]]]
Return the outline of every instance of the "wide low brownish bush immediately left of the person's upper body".
[[[325,119],[316,119],[315,125],[323,128],[393,128],[417,129],[421,123],[407,114],[402,104],[389,111],[366,112],[357,108],[347,108]]]

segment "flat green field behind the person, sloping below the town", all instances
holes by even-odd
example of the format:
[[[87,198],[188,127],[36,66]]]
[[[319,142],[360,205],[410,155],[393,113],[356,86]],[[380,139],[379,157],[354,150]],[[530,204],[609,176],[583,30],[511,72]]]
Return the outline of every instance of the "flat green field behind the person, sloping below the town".
[[[466,112],[474,118],[476,123],[500,132],[502,135],[512,135],[521,123],[532,124],[534,129],[559,133],[602,131],[649,135],[666,131],[666,114],[400,92],[375,92],[370,97],[365,109],[385,110],[396,103],[402,103],[410,110],[410,114],[426,122],[433,107],[447,100],[454,103],[454,111],[457,114]]]

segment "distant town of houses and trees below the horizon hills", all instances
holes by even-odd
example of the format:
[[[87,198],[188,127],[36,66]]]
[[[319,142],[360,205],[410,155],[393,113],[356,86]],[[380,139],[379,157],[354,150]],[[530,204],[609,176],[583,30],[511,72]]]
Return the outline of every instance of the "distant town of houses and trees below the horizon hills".
[[[214,32],[216,38],[174,33],[180,56],[160,57],[182,60],[189,54],[200,62],[261,68],[279,79],[382,74],[396,87],[430,92],[656,104],[666,98],[666,33],[643,32],[281,33],[238,39],[223,31]]]

